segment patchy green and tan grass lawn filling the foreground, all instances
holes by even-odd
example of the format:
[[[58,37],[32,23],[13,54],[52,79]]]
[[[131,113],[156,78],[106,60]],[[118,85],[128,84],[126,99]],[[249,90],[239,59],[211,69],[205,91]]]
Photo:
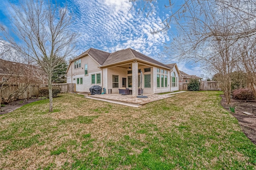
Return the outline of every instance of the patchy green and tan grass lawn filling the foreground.
[[[0,169],[256,169],[256,145],[218,105],[185,92],[134,108],[75,94],[0,116]]]

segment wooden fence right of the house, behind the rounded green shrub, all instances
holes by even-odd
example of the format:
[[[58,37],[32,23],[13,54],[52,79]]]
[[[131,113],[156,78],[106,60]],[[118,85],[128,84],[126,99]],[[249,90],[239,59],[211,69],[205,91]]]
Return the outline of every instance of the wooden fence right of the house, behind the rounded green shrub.
[[[179,82],[179,90],[188,90],[187,82]],[[221,90],[217,81],[201,81],[200,90]]]

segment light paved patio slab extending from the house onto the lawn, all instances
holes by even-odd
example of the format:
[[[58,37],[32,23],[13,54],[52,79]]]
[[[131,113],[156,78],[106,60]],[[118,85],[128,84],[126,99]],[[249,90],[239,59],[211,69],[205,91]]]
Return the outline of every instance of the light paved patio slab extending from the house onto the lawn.
[[[94,99],[94,100],[101,100],[104,102],[122,104],[126,106],[140,107],[150,102],[173,97],[174,96],[173,94],[178,94],[182,92],[186,92],[186,91],[174,92],[174,93],[168,93],[168,94],[143,94],[143,96],[147,96],[148,98],[137,98],[137,97],[132,97],[132,95],[122,95],[122,94],[98,94],[98,95],[89,95],[89,96],[86,95],[84,97],[89,99]]]

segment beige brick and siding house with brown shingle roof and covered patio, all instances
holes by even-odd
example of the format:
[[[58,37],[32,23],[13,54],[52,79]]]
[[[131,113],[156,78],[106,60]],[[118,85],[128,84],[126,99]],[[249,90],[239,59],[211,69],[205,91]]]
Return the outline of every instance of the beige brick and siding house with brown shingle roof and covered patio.
[[[67,83],[75,83],[76,92],[90,92],[91,86],[99,85],[106,89],[106,93],[129,88],[132,96],[137,96],[140,71],[144,94],[178,90],[180,72],[177,64],[160,63],[130,48],[114,53],[88,49],[70,61]]]

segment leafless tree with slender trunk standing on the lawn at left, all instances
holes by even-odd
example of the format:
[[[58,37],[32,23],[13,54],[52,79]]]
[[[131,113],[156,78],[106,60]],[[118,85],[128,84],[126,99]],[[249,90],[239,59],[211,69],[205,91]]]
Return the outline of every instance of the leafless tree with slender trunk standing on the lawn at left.
[[[47,74],[49,111],[53,111],[52,76],[63,59],[74,53],[77,33],[70,29],[72,16],[67,7],[58,8],[51,1],[21,0],[10,4],[14,33],[21,43],[7,36],[13,48],[36,61]],[[59,60],[56,60],[56,57]]]

